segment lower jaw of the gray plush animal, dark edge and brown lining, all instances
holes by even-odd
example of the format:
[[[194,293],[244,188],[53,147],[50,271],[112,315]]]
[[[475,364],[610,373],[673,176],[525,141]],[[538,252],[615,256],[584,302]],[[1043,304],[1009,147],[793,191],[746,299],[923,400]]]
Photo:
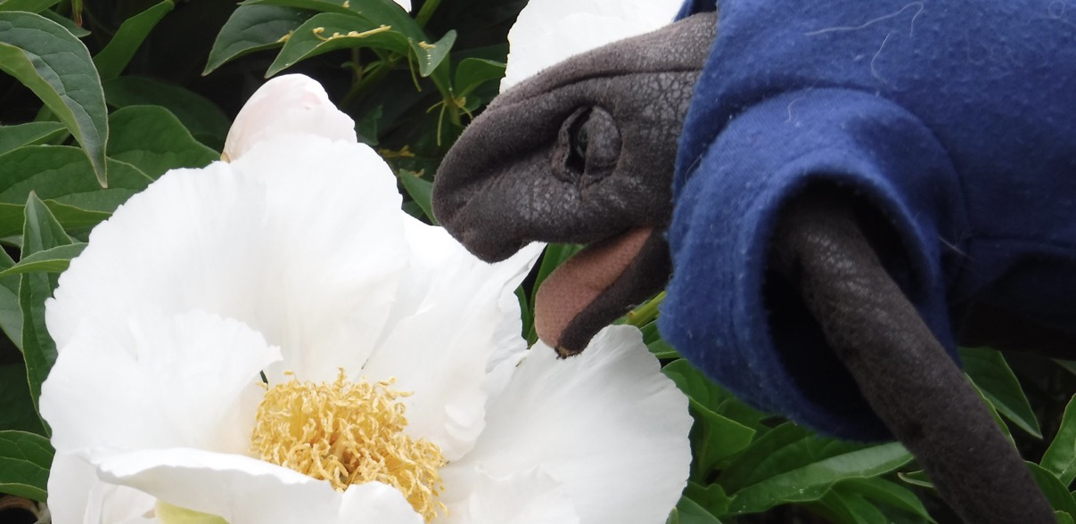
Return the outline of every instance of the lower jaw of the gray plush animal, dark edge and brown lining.
[[[554,270],[535,299],[535,329],[563,356],[656,293],[668,278],[664,239],[650,227],[587,245]]]

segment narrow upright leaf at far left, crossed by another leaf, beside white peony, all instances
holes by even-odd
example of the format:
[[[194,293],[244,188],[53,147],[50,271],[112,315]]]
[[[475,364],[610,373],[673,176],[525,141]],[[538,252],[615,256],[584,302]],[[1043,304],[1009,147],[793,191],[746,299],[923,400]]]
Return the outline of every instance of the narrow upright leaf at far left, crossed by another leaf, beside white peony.
[[[71,237],[56,221],[44,202],[30,193],[26,200],[26,225],[23,228],[23,256],[72,243]],[[45,299],[56,289],[56,273],[23,273],[18,305],[23,309],[23,357],[30,397],[37,408],[41,383],[56,363],[56,343],[45,327]],[[40,411],[39,411],[40,412]]]

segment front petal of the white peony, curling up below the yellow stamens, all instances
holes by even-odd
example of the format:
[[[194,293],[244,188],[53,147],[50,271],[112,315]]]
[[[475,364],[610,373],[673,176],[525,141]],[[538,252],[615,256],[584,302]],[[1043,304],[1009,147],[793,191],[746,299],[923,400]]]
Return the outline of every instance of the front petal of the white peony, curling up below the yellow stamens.
[[[246,456],[169,449],[104,455],[94,462],[109,482],[230,524],[422,522],[404,496],[384,484],[352,486],[341,494],[328,482]]]

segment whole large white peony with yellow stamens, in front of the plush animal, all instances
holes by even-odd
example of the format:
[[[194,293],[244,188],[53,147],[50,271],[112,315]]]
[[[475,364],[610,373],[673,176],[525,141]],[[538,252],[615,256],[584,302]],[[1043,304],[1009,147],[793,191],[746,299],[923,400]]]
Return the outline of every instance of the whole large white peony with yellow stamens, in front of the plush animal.
[[[526,350],[497,265],[400,211],[324,90],[280,76],[230,162],[116,210],[46,305],[66,523],[661,523],[685,397],[637,330]]]

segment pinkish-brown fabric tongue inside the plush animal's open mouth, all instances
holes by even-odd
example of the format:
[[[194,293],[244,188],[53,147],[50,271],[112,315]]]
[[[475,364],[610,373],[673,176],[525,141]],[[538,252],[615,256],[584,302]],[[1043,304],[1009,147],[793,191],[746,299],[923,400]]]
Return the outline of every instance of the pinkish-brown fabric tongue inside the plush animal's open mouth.
[[[653,228],[632,229],[591,244],[557,267],[535,297],[535,329],[556,349],[564,329],[631,266]]]

